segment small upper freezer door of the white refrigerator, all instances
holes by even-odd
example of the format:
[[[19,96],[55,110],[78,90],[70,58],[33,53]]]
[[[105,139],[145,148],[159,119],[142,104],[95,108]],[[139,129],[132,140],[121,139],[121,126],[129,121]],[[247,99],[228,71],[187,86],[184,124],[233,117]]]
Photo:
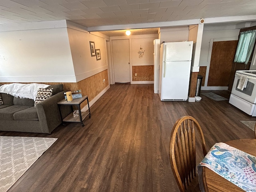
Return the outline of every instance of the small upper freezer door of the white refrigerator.
[[[165,60],[168,61],[191,61],[193,41],[164,43]]]

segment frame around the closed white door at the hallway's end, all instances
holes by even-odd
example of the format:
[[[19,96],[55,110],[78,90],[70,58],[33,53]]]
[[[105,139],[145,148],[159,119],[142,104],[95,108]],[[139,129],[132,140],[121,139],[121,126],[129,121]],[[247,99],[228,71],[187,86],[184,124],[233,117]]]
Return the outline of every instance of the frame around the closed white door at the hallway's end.
[[[112,46],[113,46],[112,41],[113,41],[113,40],[126,40],[126,39],[129,40],[130,84],[132,84],[132,62],[131,62],[131,60],[132,60],[132,58],[131,58],[131,55],[132,55],[132,53],[131,53],[132,45],[131,45],[131,39],[130,39],[130,38],[123,38],[123,37],[120,37],[120,38],[115,37],[115,38],[111,39],[111,37],[110,37],[111,60],[112,60],[111,66],[112,66],[113,84],[116,83],[116,80],[115,80],[115,71],[114,71],[114,62],[113,62],[113,61],[114,61],[114,56],[113,56],[113,49],[112,49]]]

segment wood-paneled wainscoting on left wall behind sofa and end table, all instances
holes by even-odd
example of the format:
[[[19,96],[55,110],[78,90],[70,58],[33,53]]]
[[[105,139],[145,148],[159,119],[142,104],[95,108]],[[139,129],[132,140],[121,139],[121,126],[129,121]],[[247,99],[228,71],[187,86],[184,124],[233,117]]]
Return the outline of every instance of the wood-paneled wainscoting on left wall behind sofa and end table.
[[[103,80],[105,81],[103,82]],[[22,82],[23,83],[23,82]],[[26,84],[32,83],[32,82],[25,82]],[[95,74],[93,76],[90,76],[82,81],[76,82],[76,83],[68,83],[68,82],[41,82],[42,84],[49,84],[49,85],[56,85],[56,84],[63,84],[64,90],[68,91],[75,91],[81,89],[82,95],[88,96],[88,100],[91,101],[94,99],[100,92],[102,92],[109,84],[108,84],[108,70],[104,70],[102,72],[99,72],[98,74]],[[10,84],[8,83],[0,83],[0,84]],[[64,95],[63,95],[64,98]],[[83,102],[81,104],[81,108],[86,106],[87,103]]]

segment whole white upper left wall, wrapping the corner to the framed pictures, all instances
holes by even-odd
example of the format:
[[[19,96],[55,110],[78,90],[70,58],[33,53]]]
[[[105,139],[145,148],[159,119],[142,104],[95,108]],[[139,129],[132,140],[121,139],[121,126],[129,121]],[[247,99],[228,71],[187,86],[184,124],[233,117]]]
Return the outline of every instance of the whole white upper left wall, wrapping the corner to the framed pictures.
[[[78,82],[88,78],[108,68],[106,39],[65,20],[5,26],[0,30],[0,82]],[[91,57],[90,41],[100,49],[101,60]]]

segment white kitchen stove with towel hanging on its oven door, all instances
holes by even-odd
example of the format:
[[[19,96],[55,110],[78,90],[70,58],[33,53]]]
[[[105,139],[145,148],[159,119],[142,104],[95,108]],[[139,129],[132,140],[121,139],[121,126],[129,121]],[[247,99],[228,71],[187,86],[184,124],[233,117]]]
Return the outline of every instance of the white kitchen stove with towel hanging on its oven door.
[[[229,103],[256,116],[256,70],[236,71]]]

